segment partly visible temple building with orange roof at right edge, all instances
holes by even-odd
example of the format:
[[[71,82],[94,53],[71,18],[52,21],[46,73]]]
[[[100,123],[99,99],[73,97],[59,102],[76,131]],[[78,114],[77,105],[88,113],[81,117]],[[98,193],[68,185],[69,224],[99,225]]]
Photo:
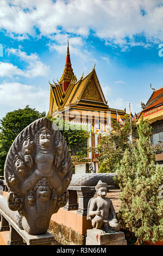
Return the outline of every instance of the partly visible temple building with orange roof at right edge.
[[[152,87],[151,87],[152,88]],[[153,93],[149,100],[145,103],[141,102],[142,111],[138,114],[138,123],[143,117],[148,120],[152,126],[151,143],[153,147],[160,147],[159,152],[156,154],[156,162],[160,165],[163,164],[163,87],[153,89]]]

